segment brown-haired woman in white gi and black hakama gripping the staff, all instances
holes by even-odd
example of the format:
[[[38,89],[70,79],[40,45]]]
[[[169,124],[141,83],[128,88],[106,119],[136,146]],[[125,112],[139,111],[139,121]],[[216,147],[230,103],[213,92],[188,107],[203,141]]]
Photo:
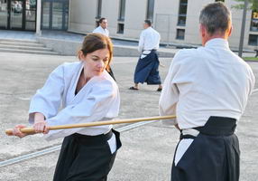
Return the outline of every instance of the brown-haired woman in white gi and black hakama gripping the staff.
[[[106,72],[113,56],[110,39],[100,33],[85,37],[78,52],[80,62],[61,64],[33,96],[29,121],[47,140],[64,138],[54,181],[102,181],[121,147],[111,125],[49,131],[50,126],[113,119],[118,115],[118,87]],[[63,109],[60,110],[60,102]],[[59,111],[60,110],[60,111]],[[14,135],[26,136],[14,128]]]

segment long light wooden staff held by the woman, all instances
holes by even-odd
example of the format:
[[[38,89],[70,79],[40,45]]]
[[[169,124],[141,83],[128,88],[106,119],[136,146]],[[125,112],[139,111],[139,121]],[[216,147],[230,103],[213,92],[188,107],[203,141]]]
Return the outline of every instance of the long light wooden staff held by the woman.
[[[175,115],[170,116],[157,116],[157,117],[149,117],[149,118],[138,118],[138,119],[118,119],[118,120],[106,120],[106,121],[97,121],[97,122],[88,122],[88,123],[80,123],[80,124],[69,124],[69,125],[60,125],[60,126],[52,126],[49,127],[50,130],[54,129],[78,129],[84,127],[95,127],[102,125],[111,125],[111,124],[121,124],[121,123],[133,123],[133,122],[141,122],[148,120],[160,120],[160,119],[175,119]],[[33,128],[24,128],[21,129],[21,132],[28,134],[35,134]],[[6,129],[6,135],[13,136],[13,129]]]

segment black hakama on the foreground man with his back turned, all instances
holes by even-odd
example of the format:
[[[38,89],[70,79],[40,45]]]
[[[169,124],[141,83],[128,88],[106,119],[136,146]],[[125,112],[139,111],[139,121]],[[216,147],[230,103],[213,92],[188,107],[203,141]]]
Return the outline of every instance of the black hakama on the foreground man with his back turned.
[[[235,119],[210,117],[171,170],[171,181],[238,181],[239,142]],[[180,138],[191,138],[181,135]]]

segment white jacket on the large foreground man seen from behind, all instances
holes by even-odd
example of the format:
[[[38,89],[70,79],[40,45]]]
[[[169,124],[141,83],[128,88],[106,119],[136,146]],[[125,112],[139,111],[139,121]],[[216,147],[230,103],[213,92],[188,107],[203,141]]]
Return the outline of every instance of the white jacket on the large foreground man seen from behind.
[[[210,116],[240,119],[254,88],[250,66],[224,39],[180,50],[170,65],[160,98],[160,114],[176,114],[180,129],[204,126]]]

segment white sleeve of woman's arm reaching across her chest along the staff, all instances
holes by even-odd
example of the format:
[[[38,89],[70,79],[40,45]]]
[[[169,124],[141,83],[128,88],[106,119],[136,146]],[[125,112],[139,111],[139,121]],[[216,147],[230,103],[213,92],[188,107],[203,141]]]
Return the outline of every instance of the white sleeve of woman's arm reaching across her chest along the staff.
[[[69,105],[65,109],[61,110],[58,115],[51,119],[47,119],[46,121],[49,126],[98,121],[106,118],[110,109],[119,109],[113,108],[114,105],[119,105],[115,104],[115,101],[119,101],[118,90],[114,89],[114,85],[110,81],[95,83],[91,87],[88,95],[82,97],[81,101],[76,104]],[[47,140],[62,138],[79,130],[80,129],[51,130],[45,138]]]

